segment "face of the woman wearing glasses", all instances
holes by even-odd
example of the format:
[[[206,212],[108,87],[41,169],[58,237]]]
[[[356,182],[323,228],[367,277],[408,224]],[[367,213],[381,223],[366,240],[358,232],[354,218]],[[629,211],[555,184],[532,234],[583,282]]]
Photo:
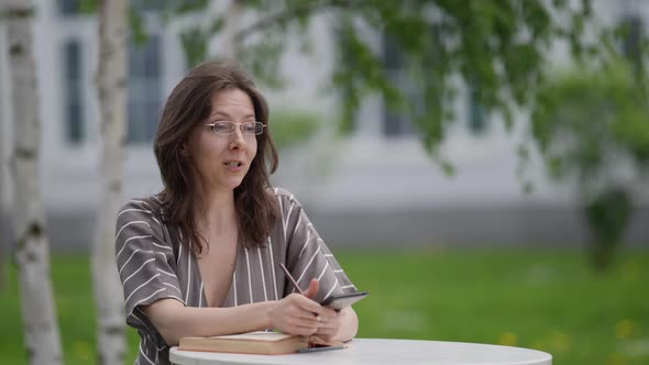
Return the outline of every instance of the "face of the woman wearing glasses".
[[[221,90],[211,103],[210,115],[200,124],[255,122],[252,100],[240,89]],[[245,177],[257,153],[257,140],[244,134],[241,126],[235,124],[232,134],[217,134],[205,125],[191,131],[186,148],[204,192],[231,192]]]

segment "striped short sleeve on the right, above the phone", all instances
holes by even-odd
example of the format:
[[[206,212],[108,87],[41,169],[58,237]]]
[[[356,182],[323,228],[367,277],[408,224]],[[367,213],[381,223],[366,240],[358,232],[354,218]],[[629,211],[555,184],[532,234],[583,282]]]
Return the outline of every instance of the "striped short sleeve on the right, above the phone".
[[[307,217],[299,201],[288,191],[278,189],[282,201],[282,218],[286,222],[287,268],[305,290],[310,280],[320,281],[316,301],[331,295],[356,291],[356,288]],[[285,296],[296,291],[293,284],[286,285]]]

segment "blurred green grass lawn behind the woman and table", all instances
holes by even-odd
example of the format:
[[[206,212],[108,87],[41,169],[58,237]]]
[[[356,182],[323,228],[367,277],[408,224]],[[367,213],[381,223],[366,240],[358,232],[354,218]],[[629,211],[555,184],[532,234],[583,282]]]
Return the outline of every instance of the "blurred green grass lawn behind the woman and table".
[[[598,275],[579,251],[337,250],[356,287],[359,336],[505,344],[557,365],[649,364],[649,251]],[[52,273],[66,364],[95,363],[88,257],[55,255]],[[25,364],[16,273],[0,289],[0,363]],[[129,331],[132,364],[138,339]]]

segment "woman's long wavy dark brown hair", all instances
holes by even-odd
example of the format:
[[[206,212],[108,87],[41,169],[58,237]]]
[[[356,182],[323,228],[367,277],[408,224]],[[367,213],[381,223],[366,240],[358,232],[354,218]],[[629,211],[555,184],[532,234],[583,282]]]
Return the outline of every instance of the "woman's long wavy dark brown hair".
[[[200,254],[207,240],[198,232],[197,214],[207,207],[200,199],[191,163],[180,151],[194,126],[205,123],[211,111],[212,97],[226,89],[244,91],[254,106],[257,122],[268,125],[268,106],[248,74],[233,62],[210,62],[194,68],[169,95],[157,125],[153,152],[157,159],[164,189],[157,195],[166,224],[179,229],[186,248]],[[240,186],[234,189],[234,204],[240,242],[264,245],[279,210],[271,192],[268,172],[277,168],[277,150],[266,128],[256,136],[257,153]]]

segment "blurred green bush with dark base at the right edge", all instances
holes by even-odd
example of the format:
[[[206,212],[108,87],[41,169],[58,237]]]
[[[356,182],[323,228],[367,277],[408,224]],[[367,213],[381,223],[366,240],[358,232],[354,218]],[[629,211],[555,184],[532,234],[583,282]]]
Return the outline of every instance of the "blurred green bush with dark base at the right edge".
[[[531,118],[549,175],[576,185],[598,269],[610,265],[649,173],[649,103],[634,65],[554,76]]]

